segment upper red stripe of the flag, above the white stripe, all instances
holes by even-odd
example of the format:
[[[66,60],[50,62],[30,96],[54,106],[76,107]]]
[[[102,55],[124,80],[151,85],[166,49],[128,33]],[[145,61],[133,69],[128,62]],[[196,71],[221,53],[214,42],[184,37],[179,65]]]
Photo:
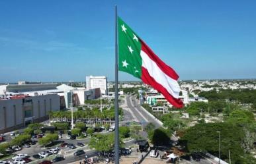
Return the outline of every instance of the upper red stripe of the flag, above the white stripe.
[[[179,75],[173,70],[173,68],[169,67],[163,61],[153,53],[153,51],[146,45],[146,43],[143,40],[140,40],[142,43],[142,51],[144,51],[152,61],[155,61],[155,63],[158,65],[158,67],[165,72],[170,78],[173,78],[174,80],[178,80]]]

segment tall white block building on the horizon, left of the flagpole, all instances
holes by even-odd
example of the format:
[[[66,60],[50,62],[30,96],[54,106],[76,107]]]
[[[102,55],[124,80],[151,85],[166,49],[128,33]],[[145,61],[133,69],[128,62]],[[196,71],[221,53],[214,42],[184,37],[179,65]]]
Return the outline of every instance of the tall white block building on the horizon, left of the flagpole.
[[[107,77],[106,76],[86,76],[86,89],[100,88],[101,94],[107,94]]]

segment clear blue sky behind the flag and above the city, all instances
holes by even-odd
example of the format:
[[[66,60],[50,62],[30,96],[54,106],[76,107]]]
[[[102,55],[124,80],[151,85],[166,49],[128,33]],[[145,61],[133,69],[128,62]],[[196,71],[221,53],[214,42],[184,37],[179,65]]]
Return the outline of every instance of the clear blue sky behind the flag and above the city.
[[[115,4],[181,79],[256,78],[256,1],[3,0],[0,82],[113,80]]]

